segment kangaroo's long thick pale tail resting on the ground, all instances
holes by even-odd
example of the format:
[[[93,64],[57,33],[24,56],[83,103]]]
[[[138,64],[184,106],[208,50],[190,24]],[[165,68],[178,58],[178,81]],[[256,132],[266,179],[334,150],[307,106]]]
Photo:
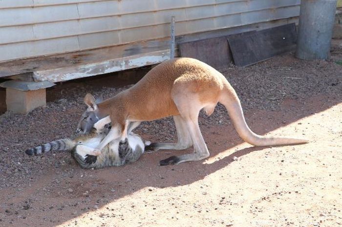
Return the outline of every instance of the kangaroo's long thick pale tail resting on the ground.
[[[227,87],[224,88],[219,102],[226,107],[239,136],[249,144],[254,146],[274,146],[309,142],[306,139],[267,137],[252,132],[245,121],[240,101],[230,84],[227,84]]]

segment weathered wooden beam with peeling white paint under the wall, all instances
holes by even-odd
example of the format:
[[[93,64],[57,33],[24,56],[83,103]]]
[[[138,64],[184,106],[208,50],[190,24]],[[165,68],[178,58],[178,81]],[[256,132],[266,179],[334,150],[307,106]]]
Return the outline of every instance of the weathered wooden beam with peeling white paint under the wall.
[[[170,41],[160,39],[0,62],[0,77],[25,74],[32,75],[28,80],[65,81],[160,63],[170,58],[169,48]]]

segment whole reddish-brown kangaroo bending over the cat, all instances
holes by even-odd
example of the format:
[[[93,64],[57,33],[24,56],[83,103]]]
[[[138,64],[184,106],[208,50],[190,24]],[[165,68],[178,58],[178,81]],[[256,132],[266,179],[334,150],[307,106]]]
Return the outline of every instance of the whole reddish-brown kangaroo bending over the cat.
[[[173,116],[177,143],[151,143],[149,150],[185,150],[193,146],[193,153],[171,156],[160,165],[179,164],[207,158],[210,154],[198,126],[201,109],[211,115],[219,102],[227,109],[239,136],[255,146],[274,146],[307,143],[306,139],[278,138],[258,135],[246,124],[239,98],[227,79],[211,66],[196,59],[181,57],[167,60],[147,73],[131,88],[98,104],[87,94],[88,106],[78,131],[86,132],[93,121],[110,116],[112,128],[95,151],[102,150],[114,137],[123,138],[125,121],[151,121]],[[88,119],[89,118],[89,119]],[[87,123],[85,123],[87,120]],[[109,123],[109,118],[107,118]]]

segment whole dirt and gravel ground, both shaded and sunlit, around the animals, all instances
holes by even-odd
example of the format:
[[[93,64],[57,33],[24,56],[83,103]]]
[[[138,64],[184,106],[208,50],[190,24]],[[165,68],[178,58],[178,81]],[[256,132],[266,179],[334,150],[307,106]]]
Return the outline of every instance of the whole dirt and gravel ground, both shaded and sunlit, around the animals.
[[[23,151],[68,137],[91,92],[127,88],[92,80],[51,88],[57,100],[27,115],[0,116],[0,226],[342,226],[342,42],[331,61],[293,54],[222,70],[258,134],[305,137],[310,143],[253,147],[219,105],[200,127],[211,156],[158,166],[192,152],[159,151],[136,163],[84,170],[67,152],[33,158]],[[151,141],[176,141],[170,118],[136,130]]]

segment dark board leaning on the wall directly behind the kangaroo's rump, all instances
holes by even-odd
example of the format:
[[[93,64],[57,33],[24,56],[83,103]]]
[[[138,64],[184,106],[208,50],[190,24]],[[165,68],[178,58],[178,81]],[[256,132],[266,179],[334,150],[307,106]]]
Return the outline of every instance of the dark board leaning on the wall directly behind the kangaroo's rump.
[[[181,57],[192,57],[220,69],[232,62],[227,37],[207,38],[179,44]]]

